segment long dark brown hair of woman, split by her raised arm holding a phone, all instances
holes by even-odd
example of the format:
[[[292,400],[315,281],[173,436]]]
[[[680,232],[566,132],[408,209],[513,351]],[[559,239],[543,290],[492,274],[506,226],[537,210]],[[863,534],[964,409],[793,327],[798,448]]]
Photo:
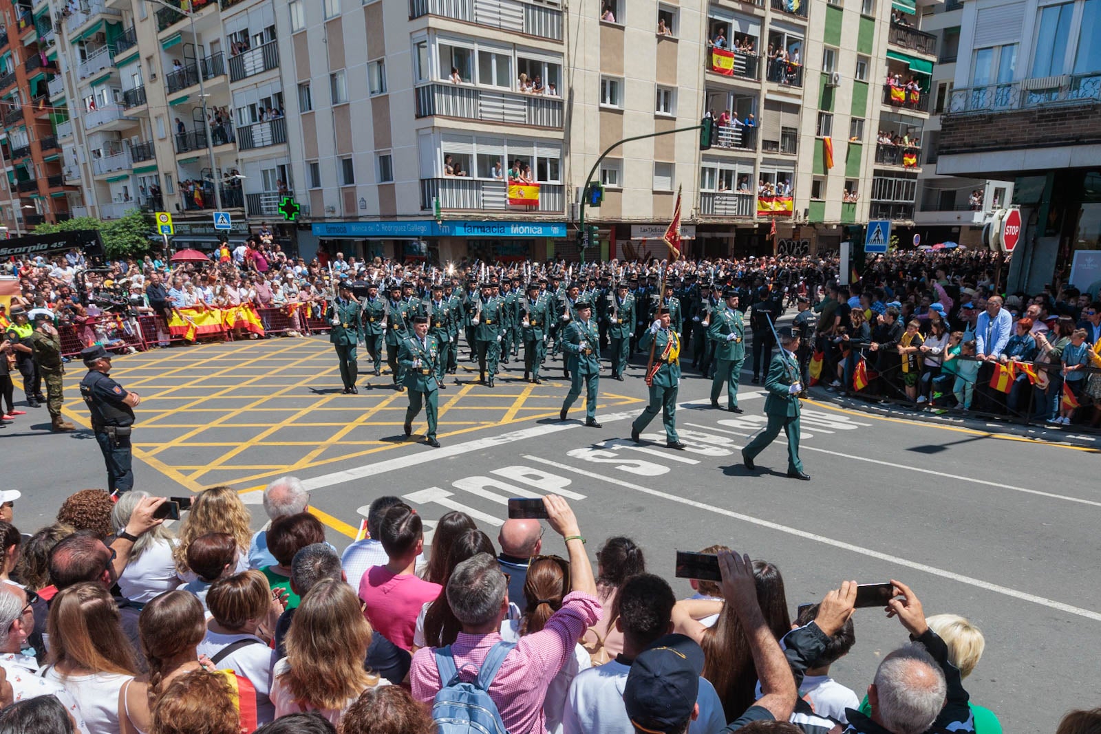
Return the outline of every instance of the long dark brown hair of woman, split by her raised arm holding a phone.
[[[784,577],[767,561],[753,561],[757,603],[772,634],[780,639],[792,628],[784,594]],[[728,721],[733,721],[755,700],[757,672],[753,665],[749,638],[732,604],[723,604],[719,621],[704,633],[704,678],[707,678],[722,701]]]

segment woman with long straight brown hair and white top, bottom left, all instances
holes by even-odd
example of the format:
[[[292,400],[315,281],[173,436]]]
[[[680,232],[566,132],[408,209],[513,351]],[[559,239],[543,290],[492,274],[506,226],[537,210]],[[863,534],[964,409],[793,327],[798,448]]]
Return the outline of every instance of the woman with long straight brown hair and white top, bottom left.
[[[118,732],[119,691],[138,670],[119,610],[101,583],[85,581],[54,596],[46,621],[50,662],[42,677],[76,701],[89,732]]]

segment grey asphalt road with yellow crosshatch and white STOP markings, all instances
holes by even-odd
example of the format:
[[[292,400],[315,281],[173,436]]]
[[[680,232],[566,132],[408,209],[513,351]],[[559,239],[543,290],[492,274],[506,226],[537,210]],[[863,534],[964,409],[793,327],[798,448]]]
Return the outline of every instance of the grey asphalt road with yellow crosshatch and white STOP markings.
[[[465,384],[440,394],[440,449],[401,436],[406,398],[388,375],[340,394],[320,338],[155,350],[118,359],[113,374],[143,395],[138,485],[177,494],[230,484],[253,505],[257,527],[260,490],[286,473],[307,482],[338,547],[381,494],[406,497],[429,526],[464,510],[495,538],[508,497],[554,491],[574,504],[590,551],[630,535],[671,580],[675,550],[713,543],[776,563],[793,614],[842,579],[909,583],[928,614],[962,614],[983,629],[986,653],[964,683],[1006,731],[1053,731],[1065,711],[1098,700],[1081,654],[1101,648],[1095,450],[808,401],[803,460],[813,479],[798,482],[784,476],[782,443],[757,458],[757,472],[740,463],[738,449],[764,425],[754,385],[742,386],[745,414],[734,415],[709,409],[709,383],[686,376],[677,418],[688,450],[677,452],[665,448],[659,419],[648,443],[628,438],[644,405],[640,368],[625,382],[601,381],[603,427],[592,429],[580,405],[558,420],[568,386],[557,366],[541,386],[521,381],[515,362],[492,391],[460,375]],[[369,370],[362,358],[360,370]],[[86,425],[78,374],[74,366],[67,377],[66,412]],[[50,435],[44,409],[26,418],[0,436],[4,485],[24,494],[15,524],[33,532],[66,494],[105,475],[86,430]],[[564,552],[550,534],[544,547]],[[673,583],[690,593],[687,581]],[[857,646],[833,676],[862,694],[906,635],[877,610],[858,612],[855,624]]]

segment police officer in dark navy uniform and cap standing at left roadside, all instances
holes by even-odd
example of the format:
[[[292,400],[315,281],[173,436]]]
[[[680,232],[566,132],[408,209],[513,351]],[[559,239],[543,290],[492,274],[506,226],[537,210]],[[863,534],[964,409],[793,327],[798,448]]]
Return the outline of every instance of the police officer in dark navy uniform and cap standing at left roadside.
[[[91,413],[91,429],[107,463],[107,489],[111,493],[129,492],[134,485],[130,431],[134,424],[133,409],[141,397],[108,376],[111,355],[102,344],[86,347],[80,351],[80,359],[88,368],[88,374],[80,381],[80,397]]]

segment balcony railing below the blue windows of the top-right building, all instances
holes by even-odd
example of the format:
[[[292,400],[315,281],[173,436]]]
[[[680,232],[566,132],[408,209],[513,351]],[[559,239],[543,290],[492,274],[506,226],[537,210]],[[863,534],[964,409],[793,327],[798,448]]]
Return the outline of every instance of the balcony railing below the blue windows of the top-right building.
[[[1065,74],[1012,84],[953,89],[946,114],[1009,112],[1032,107],[1101,101],[1101,73]]]

